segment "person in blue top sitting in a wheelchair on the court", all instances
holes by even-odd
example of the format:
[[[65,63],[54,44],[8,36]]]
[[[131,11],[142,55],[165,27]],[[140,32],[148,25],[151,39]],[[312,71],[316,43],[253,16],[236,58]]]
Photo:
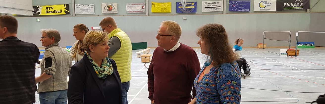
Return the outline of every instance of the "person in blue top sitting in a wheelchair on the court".
[[[244,40],[241,38],[236,39],[235,46],[233,47],[233,51],[235,51],[238,55],[238,59],[236,60],[239,66],[239,69],[243,68],[244,74],[249,74],[249,71],[247,70],[247,63],[246,59],[241,57],[241,46],[243,45]]]

